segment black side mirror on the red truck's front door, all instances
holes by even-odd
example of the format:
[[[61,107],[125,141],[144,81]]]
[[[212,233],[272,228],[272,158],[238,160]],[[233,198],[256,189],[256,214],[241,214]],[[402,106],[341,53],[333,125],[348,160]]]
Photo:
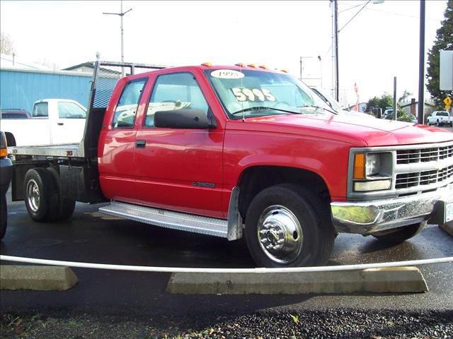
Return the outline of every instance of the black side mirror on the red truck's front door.
[[[201,109],[175,109],[154,114],[154,126],[168,129],[214,129],[216,121],[211,112]]]

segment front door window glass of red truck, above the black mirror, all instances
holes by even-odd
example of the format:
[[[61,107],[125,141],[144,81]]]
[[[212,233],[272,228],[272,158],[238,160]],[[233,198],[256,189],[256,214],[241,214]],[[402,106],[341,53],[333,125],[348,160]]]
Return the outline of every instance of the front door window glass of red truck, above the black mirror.
[[[192,73],[164,74],[157,78],[149,99],[144,126],[154,127],[154,113],[175,109],[209,109]]]

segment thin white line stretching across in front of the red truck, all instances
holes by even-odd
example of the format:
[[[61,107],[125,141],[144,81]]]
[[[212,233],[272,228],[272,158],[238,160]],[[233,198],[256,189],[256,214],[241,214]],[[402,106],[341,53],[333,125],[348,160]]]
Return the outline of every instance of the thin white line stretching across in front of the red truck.
[[[75,261],[56,261],[47,259],[23,258],[21,256],[1,256],[1,255],[0,260],[16,261],[19,263],[37,263],[42,265],[53,265],[53,266],[98,268],[101,270],[136,270],[142,272],[282,273],[282,272],[328,272],[334,270],[365,270],[367,268],[386,268],[386,267],[428,265],[431,263],[450,263],[453,262],[453,256],[423,260],[394,261],[389,263],[362,263],[359,265],[289,267],[289,268],[185,268],[185,267],[159,267],[159,266],[128,266],[128,265],[111,265],[105,263],[78,263]]]

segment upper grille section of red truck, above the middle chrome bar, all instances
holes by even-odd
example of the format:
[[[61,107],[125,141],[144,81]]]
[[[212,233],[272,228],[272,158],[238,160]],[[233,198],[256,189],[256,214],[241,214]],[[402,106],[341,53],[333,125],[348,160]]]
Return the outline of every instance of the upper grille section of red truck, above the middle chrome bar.
[[[415,148],[410,150],[397,150],[397,164],[413,164],[416,162],[430,162],[453,157],[453,145],[435,148]]]

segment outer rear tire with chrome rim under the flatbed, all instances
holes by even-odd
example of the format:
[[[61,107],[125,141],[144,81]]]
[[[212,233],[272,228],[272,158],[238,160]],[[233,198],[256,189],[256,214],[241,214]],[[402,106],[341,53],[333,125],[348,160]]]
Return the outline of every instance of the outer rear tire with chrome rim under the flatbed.
[[[58,218],[58,192],[55,179],[44,167],[28,169],[24,179],[25,207],[38,222]]]

